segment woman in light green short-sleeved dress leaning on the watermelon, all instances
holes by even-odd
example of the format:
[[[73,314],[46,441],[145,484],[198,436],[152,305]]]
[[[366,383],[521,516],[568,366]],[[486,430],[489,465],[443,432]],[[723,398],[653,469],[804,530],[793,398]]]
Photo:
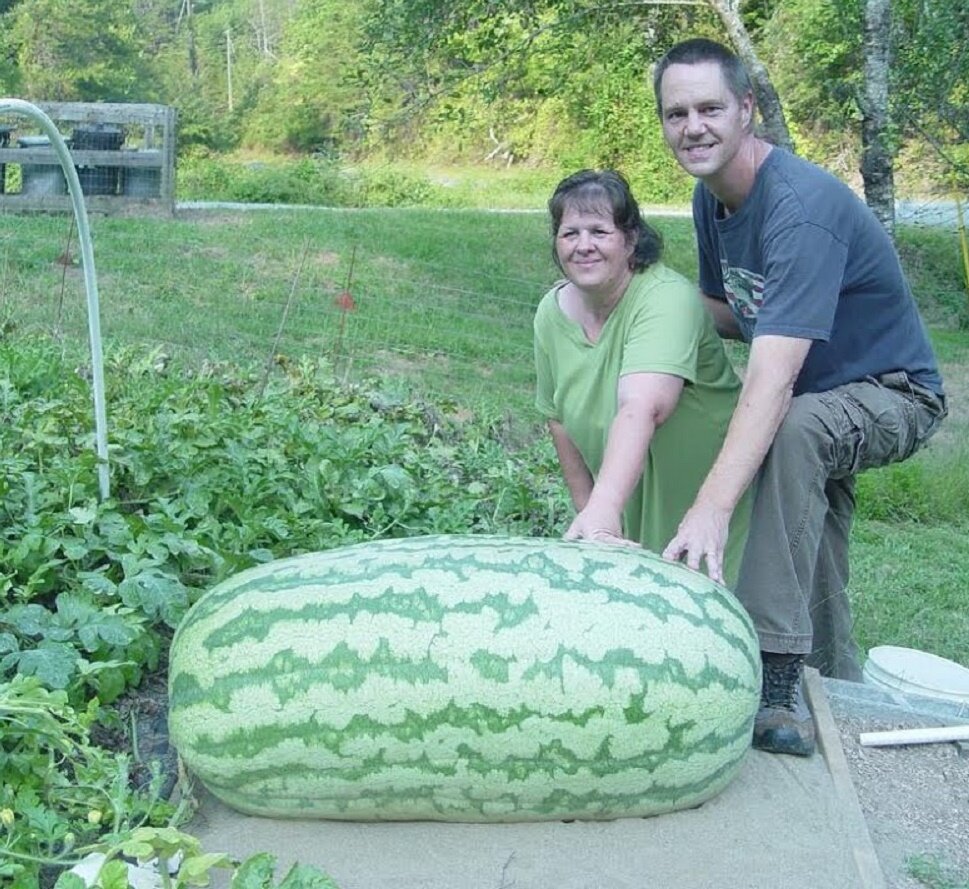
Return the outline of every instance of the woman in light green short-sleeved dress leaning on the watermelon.
[[[575,173],[548,206],[565,280],[535,314],[536,405],[576,509],[565,536],[661,552],[720,450],[740,381],[619,173]],[[748,516],[745,500],[730,526],[728,583]]]

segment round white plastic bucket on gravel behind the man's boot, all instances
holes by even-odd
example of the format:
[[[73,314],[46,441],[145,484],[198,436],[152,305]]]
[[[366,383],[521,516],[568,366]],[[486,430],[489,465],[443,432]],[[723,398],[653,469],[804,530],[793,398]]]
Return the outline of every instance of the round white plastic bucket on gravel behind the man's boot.
[[[969,705],[969,669],[927,651],[879,645],[868,652],[862,675],[888,691]]]

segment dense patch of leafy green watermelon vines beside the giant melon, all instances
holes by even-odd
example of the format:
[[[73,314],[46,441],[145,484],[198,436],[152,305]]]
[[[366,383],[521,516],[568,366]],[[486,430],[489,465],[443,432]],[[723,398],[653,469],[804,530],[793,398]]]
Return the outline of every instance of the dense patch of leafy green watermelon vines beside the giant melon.
[[[88,730],[221,577],[378,536],[554,534],[564,518],[550,450],[513,457],[499,424],[453,404],[340,383],[318,362],[264,387],[258,371],[155,357],[109,356],[98,502],[86,380],[49,339],[0,342],[0,876],[17,887],[101,848],[105,823],[122,842],[174,817],[157,781],[127,790],[129,757]]]

